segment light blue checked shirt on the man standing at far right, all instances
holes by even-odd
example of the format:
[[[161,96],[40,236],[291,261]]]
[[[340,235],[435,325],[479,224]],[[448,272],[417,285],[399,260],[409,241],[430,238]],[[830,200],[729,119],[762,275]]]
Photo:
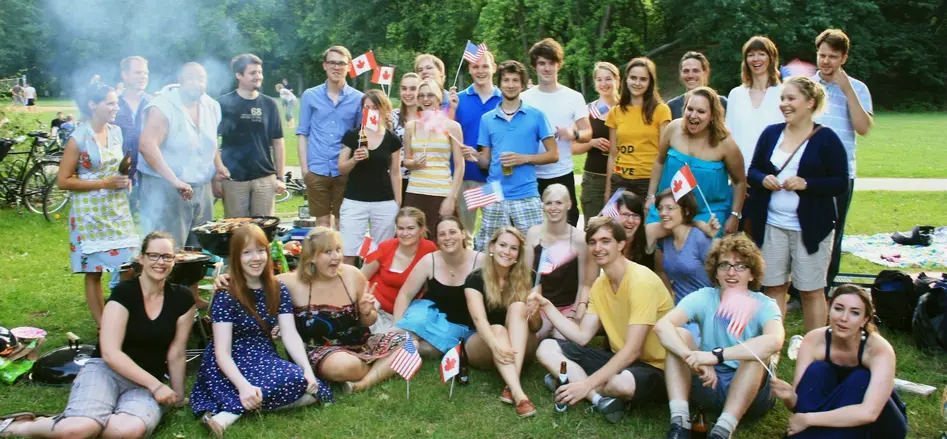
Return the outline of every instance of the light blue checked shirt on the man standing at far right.
[[[848,155],[848,178],[855,178],[855,128],[852,126],[852,115],[848,112],[848,98],[845,92],[835,82],[825,82],[822,75],[816,72],[810,79],[825,87],[825,111],[816,118],[816,123],[832,128],[842,146],[845,147],[845,154]],[[855,78],[849,77],[852,82],[852,89],[858,96],[858,103],[862,105],[868,114],[874,113],[871,104],[871,93],[868,86]]]

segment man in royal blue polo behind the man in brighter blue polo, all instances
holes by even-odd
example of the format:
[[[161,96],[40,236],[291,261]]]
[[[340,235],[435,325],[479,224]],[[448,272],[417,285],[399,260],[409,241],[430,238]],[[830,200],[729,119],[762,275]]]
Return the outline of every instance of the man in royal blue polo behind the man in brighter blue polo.
[[[475,62],[468,64],[473,85],[457,93],[453,88],[449,95],[450,105],[455,109],[454,120],[460,124],[464,133],[464,142],[470,145],[477,144],[480,134],[480,118],[487,112],[496,109],[503,100],[500,89],[493,85],[493,74],[496,72],[496,62],[493,54],[484,52]],[[464,170],[464,184],[462,190],[482,186],[487,176],[475,162],[466,162]],[[467,202],[463,198],[458,200],[460,221],[464,228],[473,232],[477,222],[477,209],[467,210]]]

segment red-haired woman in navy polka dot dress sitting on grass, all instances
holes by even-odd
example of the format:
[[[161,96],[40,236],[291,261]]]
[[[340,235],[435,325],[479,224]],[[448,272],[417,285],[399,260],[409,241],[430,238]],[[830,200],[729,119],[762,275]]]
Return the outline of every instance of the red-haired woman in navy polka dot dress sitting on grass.
[[[204,351],[191,407],[216,437],[248,411],[332,402],[332,390],[312,372],[289,292],[273,275],[268,249],[256,225],[235,230],[229,292],[217,292],[211,305],[214,340]],[[295,364],[283,360],[270,339],[277,322]]]

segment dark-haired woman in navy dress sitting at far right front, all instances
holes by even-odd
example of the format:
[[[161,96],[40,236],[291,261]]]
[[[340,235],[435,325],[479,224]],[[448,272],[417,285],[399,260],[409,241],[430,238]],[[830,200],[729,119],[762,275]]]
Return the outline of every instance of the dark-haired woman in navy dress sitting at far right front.
[[[793,385],[774,378],[773,394],[795,414],[791,438],[903,439],[908,422],[894,392],[894,348],[878,333],[874,305],[855,285],[835,289],[829,326],[799,346]]]

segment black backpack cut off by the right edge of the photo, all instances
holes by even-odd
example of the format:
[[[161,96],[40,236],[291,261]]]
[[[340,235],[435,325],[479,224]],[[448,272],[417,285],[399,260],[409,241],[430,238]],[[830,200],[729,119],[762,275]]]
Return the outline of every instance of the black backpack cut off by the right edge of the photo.
[[[914,310],[914,340],[920,348],[947,352],[947,275],[935,279],[921,274],[916,290],[923,294]]]

